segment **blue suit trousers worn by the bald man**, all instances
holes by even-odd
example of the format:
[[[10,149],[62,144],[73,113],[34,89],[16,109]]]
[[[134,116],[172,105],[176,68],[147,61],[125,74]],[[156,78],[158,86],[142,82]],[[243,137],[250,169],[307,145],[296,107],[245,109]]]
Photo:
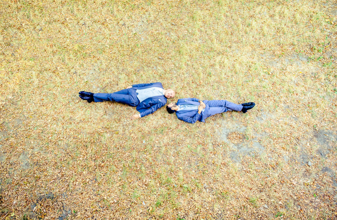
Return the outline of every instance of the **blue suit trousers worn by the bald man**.
[[[94,93],[94,101],[115,101],[127,104],[129,106],[137,106],[139,104],[139,99],[137,98],[135,89],[123,89],[114,93]]]

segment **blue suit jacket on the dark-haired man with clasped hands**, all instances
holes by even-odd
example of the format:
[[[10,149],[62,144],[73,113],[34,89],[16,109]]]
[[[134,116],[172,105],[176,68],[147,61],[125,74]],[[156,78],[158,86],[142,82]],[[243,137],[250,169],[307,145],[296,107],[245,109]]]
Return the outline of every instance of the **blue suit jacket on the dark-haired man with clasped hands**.
[[[181,104],[192,104],[192,105],[200,105],[199,99],[197,98],[182,98],[178,99],[177,105]],[[209,106],[206,104],[206,108],[204,112],[201,112],[201,114],[198,113],[198,109],[195,110],[181,110],[181,111],[176,111],[176,115],[178,119],[192,123],[194,124],[196,121],[201,121],[205,122],[205,119],[207,118],[207,109]]]

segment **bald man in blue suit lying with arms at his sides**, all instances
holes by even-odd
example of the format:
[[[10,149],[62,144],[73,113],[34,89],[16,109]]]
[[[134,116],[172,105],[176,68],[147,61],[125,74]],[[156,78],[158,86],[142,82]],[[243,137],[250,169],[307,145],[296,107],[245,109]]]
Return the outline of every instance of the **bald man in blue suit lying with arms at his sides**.
[[[166,104],[166,98],[173,98],[175,96],[175,92],[172,89],[163,89],[161,83],[135,84],[114,93],[81,91],[79,94],[80,98],[87,100],[89,103],[92,101],[115,101],[133,107],[136,106],[140,114],[131,116],[131,119],[139,119],[154,113]]]

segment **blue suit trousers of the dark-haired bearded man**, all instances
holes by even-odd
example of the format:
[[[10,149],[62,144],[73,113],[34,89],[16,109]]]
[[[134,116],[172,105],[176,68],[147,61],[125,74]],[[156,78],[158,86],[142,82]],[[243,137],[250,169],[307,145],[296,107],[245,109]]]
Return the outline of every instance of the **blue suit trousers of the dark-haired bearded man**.
[[[240,112],[243,107],[241,104],[238,105],[226,100],[209,100],[205,102],[205,104],[209,106],[209,108],[207,109],[207,118],[215,114],[220,114],[232,110]]]

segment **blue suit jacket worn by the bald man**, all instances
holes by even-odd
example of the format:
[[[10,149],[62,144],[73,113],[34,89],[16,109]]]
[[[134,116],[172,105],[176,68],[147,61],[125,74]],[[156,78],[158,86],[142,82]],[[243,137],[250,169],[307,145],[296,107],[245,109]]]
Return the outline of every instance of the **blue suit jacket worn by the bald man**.
[[[132,89],[146,89],[150,87],[159,87],[163,89],[161,83],[141,83],[132,85]],[[157,109],[161,108],[166,104],[166,97],[163,95],[153,96],[145,99],[136,106],[138,112],[140,112],[141,117],[147,116],[154,113]]]

